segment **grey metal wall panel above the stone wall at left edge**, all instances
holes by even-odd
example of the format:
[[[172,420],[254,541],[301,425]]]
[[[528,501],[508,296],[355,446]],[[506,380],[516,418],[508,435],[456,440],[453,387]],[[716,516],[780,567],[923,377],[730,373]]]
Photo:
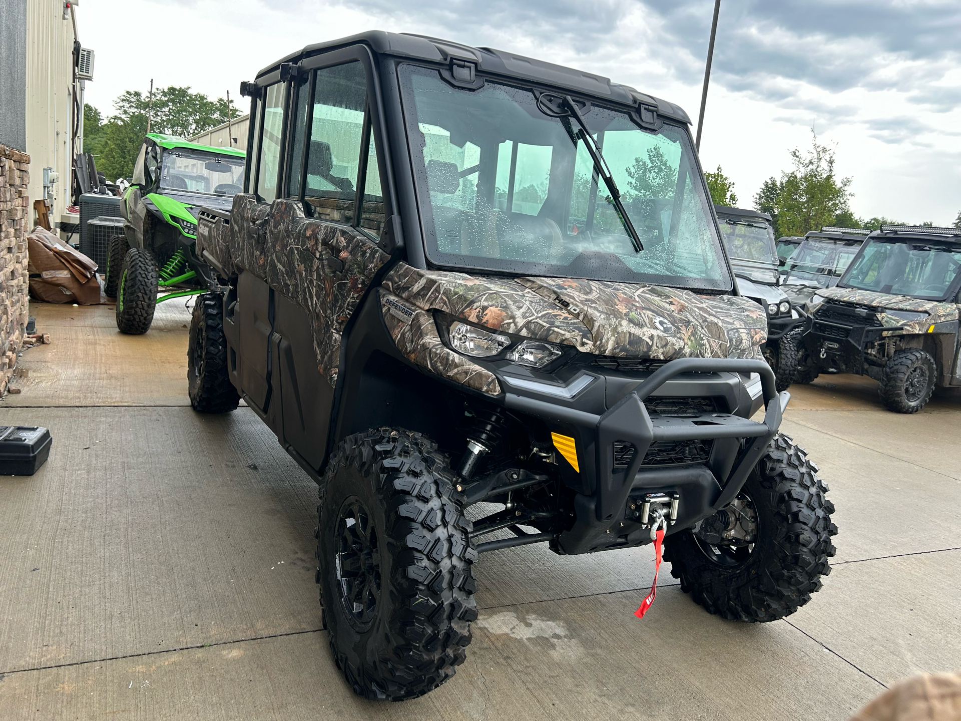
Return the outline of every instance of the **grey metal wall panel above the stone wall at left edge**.
[[[27,0],[0,0],[0,145],[27,151]]]

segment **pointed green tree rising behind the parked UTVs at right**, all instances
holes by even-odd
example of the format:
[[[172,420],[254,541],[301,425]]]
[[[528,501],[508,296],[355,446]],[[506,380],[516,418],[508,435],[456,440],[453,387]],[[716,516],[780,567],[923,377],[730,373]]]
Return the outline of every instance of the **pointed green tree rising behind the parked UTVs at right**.
[[[834,149],[811,132],[811,149],[791,151],[791,171],[767,181],[754,196],[754,207],[776,217],[777,236],[803,236],[807,231],[850,220],[850,178],[834,172]],[[776,188],[776,194],[774,192]],[[767,206],[770,210],[765,210]]]

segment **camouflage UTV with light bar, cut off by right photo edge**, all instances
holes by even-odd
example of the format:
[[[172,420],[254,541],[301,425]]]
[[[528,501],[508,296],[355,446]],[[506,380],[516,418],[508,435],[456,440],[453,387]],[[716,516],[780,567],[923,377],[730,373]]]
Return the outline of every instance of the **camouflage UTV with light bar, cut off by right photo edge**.
[[[961,229],[882,225],[808,309],[799,383],[829,368],[866,375],[888,410],[918,412],[935,388],[961,385]]]

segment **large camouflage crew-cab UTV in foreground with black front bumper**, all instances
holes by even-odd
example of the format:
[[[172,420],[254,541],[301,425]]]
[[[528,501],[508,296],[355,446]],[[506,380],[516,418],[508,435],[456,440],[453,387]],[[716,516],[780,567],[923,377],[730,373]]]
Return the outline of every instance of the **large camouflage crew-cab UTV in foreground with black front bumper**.
[[[682,110],[382,32],[308,46],[241,91],[244,191],[199,214],[216,278],[193,311],[190,401],[242,397],[320,486],[316,580],[358,694],[454,675],[473,565],[498,549],[666,531],[708,611],[772,621],[808,602],[834,508],[778,433],[766,314],[736,292]]]

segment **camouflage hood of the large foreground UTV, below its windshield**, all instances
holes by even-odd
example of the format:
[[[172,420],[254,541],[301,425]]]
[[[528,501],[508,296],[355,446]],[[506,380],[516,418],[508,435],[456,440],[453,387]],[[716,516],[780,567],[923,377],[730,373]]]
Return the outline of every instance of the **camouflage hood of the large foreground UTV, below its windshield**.
[[[767,316],[748,298],[570,278],[498,279],[398,264],[383,287],[421,311],[622,358],[759,358]]]

